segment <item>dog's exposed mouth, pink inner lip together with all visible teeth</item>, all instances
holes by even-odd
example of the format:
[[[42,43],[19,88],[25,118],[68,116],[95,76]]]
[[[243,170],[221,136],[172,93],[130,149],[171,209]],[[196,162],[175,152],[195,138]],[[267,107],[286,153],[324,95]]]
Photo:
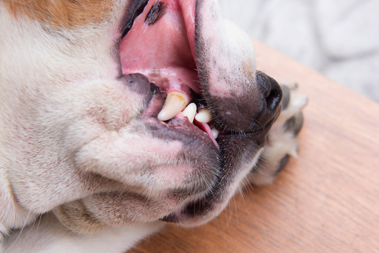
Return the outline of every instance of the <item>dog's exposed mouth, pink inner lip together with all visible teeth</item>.
[[[219,148],[219,131],[200,97],[195,2],[150,1],[121,41],[122,74],[141,73],[167,94],[158,120],[170,128],[203,135]]]

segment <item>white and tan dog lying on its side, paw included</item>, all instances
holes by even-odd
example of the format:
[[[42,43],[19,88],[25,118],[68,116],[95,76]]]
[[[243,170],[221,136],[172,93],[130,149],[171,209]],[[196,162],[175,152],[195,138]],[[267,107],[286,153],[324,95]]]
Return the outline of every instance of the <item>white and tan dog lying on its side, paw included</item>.
[[[5,252],[124,252],[296,156],[304,98],[214,0],[0,1]]]

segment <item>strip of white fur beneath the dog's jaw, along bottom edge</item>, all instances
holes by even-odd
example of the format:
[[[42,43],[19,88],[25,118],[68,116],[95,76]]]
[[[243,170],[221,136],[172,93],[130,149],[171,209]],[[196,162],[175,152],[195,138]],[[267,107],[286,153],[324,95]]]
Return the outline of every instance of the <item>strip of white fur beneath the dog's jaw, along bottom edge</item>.
[[[53,215],[36,220],[6,241],[6,252],[103,253],[125,252],[138,240],[157,232],[163,222],[105,228],[91,235],[78,235],[62,226]]]

